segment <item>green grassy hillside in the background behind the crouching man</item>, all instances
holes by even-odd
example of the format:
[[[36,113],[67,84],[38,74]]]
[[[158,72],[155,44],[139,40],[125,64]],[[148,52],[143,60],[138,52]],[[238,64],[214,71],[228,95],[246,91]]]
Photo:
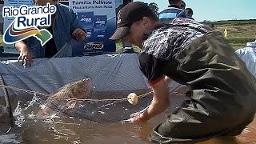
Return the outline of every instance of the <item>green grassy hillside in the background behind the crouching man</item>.
[[[218,22],[202,22],[219,30],[222,33],[227,30],[226,41],[230,43],[234,49],[246,46],[246,42],[254,42],[256,39],[256,19],[253,20],[230,20]],[[3,45],[2,35],[0,35],[0,46]],[[134,46],[136,52],[139,51],[138,47]],[[117,52],[122,51],[122,42],[117,42]]]

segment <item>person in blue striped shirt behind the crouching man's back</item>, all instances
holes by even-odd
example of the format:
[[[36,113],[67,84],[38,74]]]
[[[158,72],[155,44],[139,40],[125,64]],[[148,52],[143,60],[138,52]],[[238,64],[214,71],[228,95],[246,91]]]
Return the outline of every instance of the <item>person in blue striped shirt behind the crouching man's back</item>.
[[[161,22],[170,22],[174,18],[186,18],[185,10],[182,10],[182,0],[169,0],[170,6],[166,10],[162,10],[159,13],[159,19]]]

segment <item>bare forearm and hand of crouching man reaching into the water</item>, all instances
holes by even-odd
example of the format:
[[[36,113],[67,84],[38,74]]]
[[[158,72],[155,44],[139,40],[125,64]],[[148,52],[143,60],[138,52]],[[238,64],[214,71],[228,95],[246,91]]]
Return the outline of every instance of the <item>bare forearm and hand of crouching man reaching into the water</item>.
[[[132,118],[130,118],[131,122],[147,121],[150,118],[162,113],[170,105],[168,88],[164,78],[151,87],[154,92],[154,97],[149,108],[142,114],[133,115]]]

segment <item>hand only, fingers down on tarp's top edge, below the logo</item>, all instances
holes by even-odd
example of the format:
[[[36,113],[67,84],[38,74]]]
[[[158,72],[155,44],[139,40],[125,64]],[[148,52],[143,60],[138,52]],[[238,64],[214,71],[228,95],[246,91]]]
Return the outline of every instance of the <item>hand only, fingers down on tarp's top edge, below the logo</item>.
[[[22,65],[24,66],[31,66],[33,60],[30,54],[30,50],[27,48],[27,46],[23,46],[21,49],[21,52],[18,57],[18,62],[22,62]]]

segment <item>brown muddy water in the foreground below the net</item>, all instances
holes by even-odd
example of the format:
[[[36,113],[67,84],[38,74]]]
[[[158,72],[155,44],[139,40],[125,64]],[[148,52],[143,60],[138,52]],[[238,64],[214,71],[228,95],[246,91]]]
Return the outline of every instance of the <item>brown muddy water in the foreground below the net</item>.
[[[63,143],[149,143],[148,135],[158,122],[162,122],[171,110],[178,107],[184,98],[174,96],[170,110],[145,123],[107,122],[95,123],[85,119],[51,115],[35,118],[35,114],[22,114],[16,109],[14,128],[8,134],[0,135],[0,143],[63,144]],[[18,111],[19,110],[19,111]],[[111,115],[110,115],[111,117]],[[0,123],[1,133],[9,126]],[[238,137],[215,138],[200,144],[256,143],[256,120]]]

